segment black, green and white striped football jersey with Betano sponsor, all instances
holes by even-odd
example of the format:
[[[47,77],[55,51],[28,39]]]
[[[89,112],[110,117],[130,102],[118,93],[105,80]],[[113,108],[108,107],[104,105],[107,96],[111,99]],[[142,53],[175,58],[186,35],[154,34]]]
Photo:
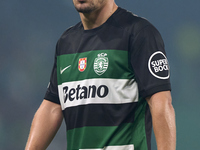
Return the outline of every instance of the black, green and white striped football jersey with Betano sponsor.
[[[79,22],[56,46],[45,99],[61,104],[67,150],[150,150],[146,97],[171,90],[159,32],[118,8],[101,26]]]

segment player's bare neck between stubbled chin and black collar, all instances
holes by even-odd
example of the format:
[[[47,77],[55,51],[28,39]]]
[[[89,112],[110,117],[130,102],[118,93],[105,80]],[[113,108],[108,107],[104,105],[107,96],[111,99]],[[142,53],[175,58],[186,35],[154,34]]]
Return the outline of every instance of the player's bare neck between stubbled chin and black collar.
[[[84,30],[94,29],[106,22],[106,20],[117,10],[115,3],[106,4],[99,10],[91,13],[79,13]]]

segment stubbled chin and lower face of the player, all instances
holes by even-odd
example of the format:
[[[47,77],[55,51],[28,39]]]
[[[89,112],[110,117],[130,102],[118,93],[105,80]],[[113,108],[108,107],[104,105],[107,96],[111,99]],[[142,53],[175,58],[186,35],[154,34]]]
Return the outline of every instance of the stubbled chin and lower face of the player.
[[[106,0],[73,0],[74,6],[78,12],[90,13],[101,8]]]

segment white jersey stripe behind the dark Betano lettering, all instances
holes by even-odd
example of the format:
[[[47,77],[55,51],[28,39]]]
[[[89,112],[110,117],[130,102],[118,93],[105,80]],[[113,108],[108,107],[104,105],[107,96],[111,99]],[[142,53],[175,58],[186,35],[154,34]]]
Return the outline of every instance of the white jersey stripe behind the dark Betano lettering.
[[[74,89],[74,92],[77,92],[77,86],[87,87],[95,85],[97,88],[101,85],[108,87],[108,95],[104,98],[98,97],[97,94],[95,98],[89,96],[86,99],[76,99],[76,94],[74,93],[71,97],[74,98],[73,101],[70,101],[69,98],[64,103],[64,97],[66,93],[69,96],[69,90]],[[68,87],[66,93],[63,92],[63,88]],[[124,104],[132,103],[138,101],[138,86],[135,80],[131,79],[87,79],[82,81],[66,82],[58,86],[59,98],[64,110],[67,107],[73,107],[78,105],[87,105],[87,104]],[[96,90],[97,91],[97,90]],[[79,94],[83,92],[83,89],[79,89]],[[104,90],[101,89],[103,94]],[[91,95],[91,94],[90,94]]]

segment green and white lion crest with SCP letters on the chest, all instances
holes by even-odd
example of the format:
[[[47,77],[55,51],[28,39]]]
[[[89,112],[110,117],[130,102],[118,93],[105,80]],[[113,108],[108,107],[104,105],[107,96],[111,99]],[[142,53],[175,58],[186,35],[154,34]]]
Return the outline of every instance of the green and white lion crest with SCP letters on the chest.
[[[100,53],[94,60],[94,71],[99,76],[102,75],[108,68],[108,57],[106,53]]]

